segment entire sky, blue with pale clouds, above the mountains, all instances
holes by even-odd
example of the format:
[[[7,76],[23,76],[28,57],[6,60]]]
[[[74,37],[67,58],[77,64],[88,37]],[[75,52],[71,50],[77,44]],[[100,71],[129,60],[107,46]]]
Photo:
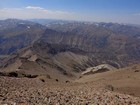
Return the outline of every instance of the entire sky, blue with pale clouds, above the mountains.
[[[140,24],[140,0],[0,0],[0,19],[5,18]]]

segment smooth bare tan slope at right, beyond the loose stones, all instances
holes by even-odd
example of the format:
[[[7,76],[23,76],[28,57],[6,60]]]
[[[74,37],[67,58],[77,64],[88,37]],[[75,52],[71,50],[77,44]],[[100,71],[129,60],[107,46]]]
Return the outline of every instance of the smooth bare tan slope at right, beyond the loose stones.
[[[140,65],[133,65],[119,70],[82,75],[76,82],[99,82],[110,85],[116,92],[140,97]]]

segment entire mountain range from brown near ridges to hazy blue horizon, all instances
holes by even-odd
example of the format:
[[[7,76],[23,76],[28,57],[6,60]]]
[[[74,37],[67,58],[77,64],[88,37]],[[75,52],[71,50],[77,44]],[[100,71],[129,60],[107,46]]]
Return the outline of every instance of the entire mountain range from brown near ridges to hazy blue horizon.
[[[88,67],[122,68],[140,62],[139,27],[75,21],[43,24],[0,21],[0,54],[11,54],[1,62],[2,72],[71,80]]]

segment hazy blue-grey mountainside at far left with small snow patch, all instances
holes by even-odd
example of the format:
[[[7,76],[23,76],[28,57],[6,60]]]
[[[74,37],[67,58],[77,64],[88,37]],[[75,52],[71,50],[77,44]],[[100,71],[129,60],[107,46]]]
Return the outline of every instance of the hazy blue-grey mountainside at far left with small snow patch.
[[[8,55],[34,43],[45,27],[26,20],[0,21],[0,55]]]

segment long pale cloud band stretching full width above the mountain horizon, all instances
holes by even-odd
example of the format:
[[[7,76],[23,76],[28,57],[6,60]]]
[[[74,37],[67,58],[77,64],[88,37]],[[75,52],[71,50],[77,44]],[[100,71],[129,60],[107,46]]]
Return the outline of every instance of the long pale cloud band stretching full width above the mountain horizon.
[[[140,24],[140,13],[136,14],[106,14],[106,13],[72,13],[60,10],[48,10],[37,6],[27,6],[22,8],[0,8],[0,19],[66,19],[84,20],[96,22],[118,22]]]

